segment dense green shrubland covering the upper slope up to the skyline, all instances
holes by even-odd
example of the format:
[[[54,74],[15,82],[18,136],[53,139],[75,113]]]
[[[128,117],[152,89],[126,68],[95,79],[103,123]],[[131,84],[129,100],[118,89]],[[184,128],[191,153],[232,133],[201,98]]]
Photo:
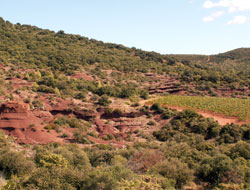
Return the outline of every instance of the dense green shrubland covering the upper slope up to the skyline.
[[[147,78],[138,73],[153,72],[208,88],[232,83],[241,88],[250,83],[247,52],[248,49],[239,49],[211,57],[160,55],[0,19],[0,63],[18,66],[18,69],[46,68],[54,75],[67,76],[84,68],[104,80],[108,78],[103,70],[112,69],[111,83],[128,79],[140,83]],[[51,82],[50,79],[47,82]],[[41,88],[44,90],[52,92],[52,89]]]

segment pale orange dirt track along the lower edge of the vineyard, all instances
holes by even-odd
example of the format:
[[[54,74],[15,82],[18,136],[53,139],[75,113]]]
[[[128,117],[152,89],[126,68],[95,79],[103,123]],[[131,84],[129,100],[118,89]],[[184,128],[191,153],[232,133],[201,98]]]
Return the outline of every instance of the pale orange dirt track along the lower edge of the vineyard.
[[[150,101],[153,101],[157,98],[151,98],[151,99],[148,99],[148,100],[142,100],[140,101],[140,104],[141,105],[145,105],[145,104],[148,104],[147,102],[150,102]],[[167,106],[169,108],[172,108],[172,109],[176,109],[178,111],[183,111],[187,108],[185,107],[179,107],[179,106]],[[209,112],[209,111],[203,111],[203,110],[195,110],[197,113],[199,113],[200,115],[202,115],[203,117],[206,117],[206,118],[213,118],[215,121],[218,121],[218,123],[220,125],[226,125],[226,124],[230,124],[230,123],[235,123],[235,124],[238,124],[238,125],[242,125],[242,124],[245,124],[247,123],[246,121],[239,121],[238,118],[236,117],[226,117],[224,115],[220,115],[220,114],[215,114],[213,112]]]

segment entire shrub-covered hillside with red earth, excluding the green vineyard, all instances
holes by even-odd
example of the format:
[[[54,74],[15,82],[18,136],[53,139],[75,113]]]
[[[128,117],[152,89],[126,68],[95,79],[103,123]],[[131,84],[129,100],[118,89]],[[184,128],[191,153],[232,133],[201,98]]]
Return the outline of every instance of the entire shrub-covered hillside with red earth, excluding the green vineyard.
[[[0,19],[0,189],[248,189],[247,51],[161,55]]]

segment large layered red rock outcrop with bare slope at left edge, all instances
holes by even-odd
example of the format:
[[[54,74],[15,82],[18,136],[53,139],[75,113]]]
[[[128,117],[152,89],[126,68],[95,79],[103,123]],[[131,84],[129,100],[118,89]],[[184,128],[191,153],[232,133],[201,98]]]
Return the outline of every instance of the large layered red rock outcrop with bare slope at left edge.
[[[30,111],[29,104],[7,102],[0,106],[0,129],[16,138],[18,143],[46,144],[60,142],[55,131],[47,133],[43,130],[44,121],[53,116],[46,111]]]

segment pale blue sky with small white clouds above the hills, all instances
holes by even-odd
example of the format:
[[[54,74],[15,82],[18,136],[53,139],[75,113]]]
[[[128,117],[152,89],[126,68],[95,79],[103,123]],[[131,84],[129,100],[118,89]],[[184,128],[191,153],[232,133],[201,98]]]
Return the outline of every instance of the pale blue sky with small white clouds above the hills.
[[[0,17],[162,54],[250,47],[250,0],[0,0]]]

